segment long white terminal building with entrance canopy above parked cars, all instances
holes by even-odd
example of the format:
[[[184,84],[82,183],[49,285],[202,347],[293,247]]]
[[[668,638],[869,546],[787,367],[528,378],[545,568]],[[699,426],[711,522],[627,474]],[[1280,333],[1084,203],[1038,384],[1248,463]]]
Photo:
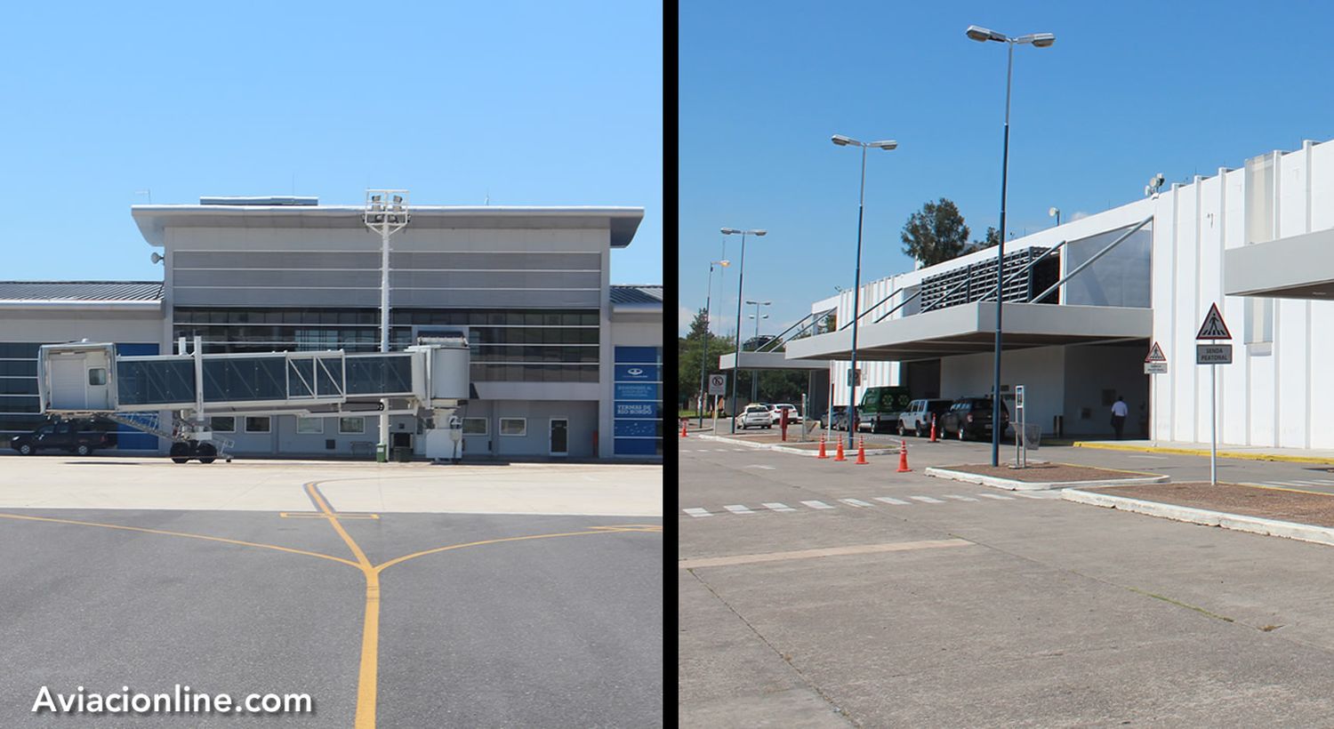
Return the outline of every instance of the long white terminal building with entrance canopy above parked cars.
[[[1218,365],[1222,444],[1334,448],[1334,144],[1305,143],[1237,169],[1006,244],[1002,397],[1045,433],[1106,437],[1110,406],[1130,406],[1129,437],[1210,440],[1210,369],[1197,333],[1217,303],[1233,336]],[[992,388],[996,251],[864,284],[858,364],[866,385],[914,397]],[[787,359],[830,361],[847,381],[852,292],[815,301],[832,333],[787,343]],[[1158,343],[1167,372],[1146,374]],[[1207,344],[1207,343],[1206,343]],[[826,366],[823,363],[820,366]],[[847,386],[832,386],[846,406]],[[1326,397],[1326,393],[1330,397]]]

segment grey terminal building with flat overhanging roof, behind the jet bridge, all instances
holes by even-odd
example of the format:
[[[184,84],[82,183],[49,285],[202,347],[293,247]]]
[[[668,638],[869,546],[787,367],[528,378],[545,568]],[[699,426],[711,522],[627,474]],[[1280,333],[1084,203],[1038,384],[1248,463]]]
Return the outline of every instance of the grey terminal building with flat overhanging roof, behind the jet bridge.
[[[119,355],[343,349],[380,341],[380,236],[364,209],[315,199],[136,205],[161,281],[0,281],[0,437],[39,412],[37,347],[87,339]],[[643,208],[412,207],[390,253],[391,345],[463,333],[471,397],[464,460],[660,458],[662,285],[612,285],[611,251]],[[352,456],[378,417],[216,417],[240,456]],[[124,428],[124,426],[123,426]],[[391,446],[422,452],[391,417]],[[124,430],[123,450],[167,442]]]

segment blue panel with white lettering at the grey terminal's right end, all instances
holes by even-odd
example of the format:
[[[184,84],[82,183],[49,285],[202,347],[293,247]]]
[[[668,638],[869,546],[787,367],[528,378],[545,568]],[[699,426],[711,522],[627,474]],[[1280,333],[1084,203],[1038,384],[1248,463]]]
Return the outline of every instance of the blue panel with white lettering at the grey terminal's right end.
[[[614,450],[618,456],[662,456],[663,348],[618,347],[615,359]]]

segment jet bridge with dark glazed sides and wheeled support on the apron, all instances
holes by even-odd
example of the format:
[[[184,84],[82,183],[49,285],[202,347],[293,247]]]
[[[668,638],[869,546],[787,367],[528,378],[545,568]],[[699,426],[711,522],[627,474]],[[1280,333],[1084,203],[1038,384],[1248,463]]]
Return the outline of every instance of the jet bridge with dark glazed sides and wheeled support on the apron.
[[[426,454],[458,460],[470,382],[463,337],[423,337],[400,352],[269,352],[204,355],[199,337],[177,355],[116,356],[108,343],[43,345],[41,412],[103,416],[172,440],[176,462],[231,460],[213,416],[412,414],[427,421]],[[172,412],[169,425],[159,413]]]

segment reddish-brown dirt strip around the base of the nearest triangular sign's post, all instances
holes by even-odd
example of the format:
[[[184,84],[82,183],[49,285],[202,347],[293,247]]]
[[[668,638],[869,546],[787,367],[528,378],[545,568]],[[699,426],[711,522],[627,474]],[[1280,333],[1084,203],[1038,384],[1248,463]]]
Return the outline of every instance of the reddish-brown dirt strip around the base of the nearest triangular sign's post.
[[[1177,506],[1334,526],[1334,494],[1242,486],[1238,484],[1151,484],[1083,489]]]

